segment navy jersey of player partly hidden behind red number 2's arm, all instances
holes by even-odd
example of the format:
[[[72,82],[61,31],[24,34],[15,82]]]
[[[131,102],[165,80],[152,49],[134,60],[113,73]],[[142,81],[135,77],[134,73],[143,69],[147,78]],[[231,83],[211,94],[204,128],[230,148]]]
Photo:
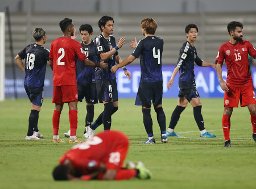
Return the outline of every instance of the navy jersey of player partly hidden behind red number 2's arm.
[[[81,42],[81,45],[82,45],[82,49],[84,49],[84,53],[86,57],[93,62],[97,62],[93,40],[89,45],[85,45],[82,42]],[[84,63],[82,63],[82,61],[77,60],[76,81],[77,83],[82,83],[82,84],[95,83],[95,68],[90,66],[85,66]]]

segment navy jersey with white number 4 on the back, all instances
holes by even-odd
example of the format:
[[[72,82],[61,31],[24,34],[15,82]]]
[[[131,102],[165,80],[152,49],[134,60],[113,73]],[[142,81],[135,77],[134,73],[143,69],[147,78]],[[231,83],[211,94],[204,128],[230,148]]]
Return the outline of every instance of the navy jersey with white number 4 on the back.
[[[131,54],[139,57],[141,64],[141,81],[163,81],[162,75],[163,39],[156,36],[147,36],[137,44]]]

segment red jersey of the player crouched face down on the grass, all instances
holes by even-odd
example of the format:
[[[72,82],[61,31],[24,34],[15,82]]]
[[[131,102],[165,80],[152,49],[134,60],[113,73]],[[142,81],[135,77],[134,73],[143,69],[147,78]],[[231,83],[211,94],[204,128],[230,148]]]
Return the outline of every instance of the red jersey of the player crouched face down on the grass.
[[[69,159],[76,170],[82,175],[97,170],[100,162],[105,163],[107,169],[122,167],[129,140],[119,131],[101,132],[89,140],[73,146],[60,158],[60,165]]]

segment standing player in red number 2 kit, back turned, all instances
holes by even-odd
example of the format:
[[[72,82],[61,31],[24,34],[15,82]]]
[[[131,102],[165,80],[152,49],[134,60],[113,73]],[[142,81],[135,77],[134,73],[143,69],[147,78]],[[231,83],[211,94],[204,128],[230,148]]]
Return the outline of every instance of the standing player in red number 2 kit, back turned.
[[[60,114],[63,104],[68,103],[70,138],[69,143],[80,143],[76,137],[77,128],[77,83],[76,83],[76,60],[79,58],[84,65],[108,67],[104,61],[100,63],[92,62],[86,58],[82,45],[71,39],[74,35],[74,24],[72,19],[65,18],[60,21],[60,28],[63,36],[54,40],[51,44],[49,53],[49,65],[53,70],[53,98],[55,110],[52,117],[53,124],[53,143],[64,142],[59,138]]]

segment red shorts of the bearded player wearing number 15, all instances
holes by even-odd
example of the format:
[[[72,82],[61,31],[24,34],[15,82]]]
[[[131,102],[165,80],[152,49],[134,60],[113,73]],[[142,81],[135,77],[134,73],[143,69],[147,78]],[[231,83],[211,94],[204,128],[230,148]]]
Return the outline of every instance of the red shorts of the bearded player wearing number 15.
[[[224,95],[224,107],[238,107],[240,100],[241,107],[249,104],[256,104],[253,85],[244,87],[228,86],[229,92]]]

